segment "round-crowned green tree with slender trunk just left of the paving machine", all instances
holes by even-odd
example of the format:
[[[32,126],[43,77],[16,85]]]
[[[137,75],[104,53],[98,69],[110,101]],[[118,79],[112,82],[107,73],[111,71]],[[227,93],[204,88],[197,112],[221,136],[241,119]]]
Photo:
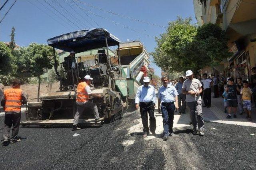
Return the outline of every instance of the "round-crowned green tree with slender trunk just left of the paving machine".
[[[44,44],[32,43],[23,48],[20,52],[22,69],[38,78],[38,101],[40,94],[41,78],[40,76],[48,69],[54,66],[53,50],[50,46]],[[58,54],[56,53],[57,61]]]

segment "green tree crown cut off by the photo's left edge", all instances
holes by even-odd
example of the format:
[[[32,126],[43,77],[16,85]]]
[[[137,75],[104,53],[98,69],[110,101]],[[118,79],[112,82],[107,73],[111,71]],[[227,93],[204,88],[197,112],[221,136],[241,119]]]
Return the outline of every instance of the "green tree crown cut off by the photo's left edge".
[[[0,42],[0,83],[8,85],[17,70],[15,57],[6,44]]]

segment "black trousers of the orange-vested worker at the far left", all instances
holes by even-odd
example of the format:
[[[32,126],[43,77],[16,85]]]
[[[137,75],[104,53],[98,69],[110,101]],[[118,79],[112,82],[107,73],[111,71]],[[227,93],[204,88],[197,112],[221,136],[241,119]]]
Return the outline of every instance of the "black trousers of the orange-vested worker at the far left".
[[[21,112],[19,113],[5,113],[4,114],[4,140],[15,141],[19,128],[20,128],[20,117]],[[12,136],[10,138],[10,129],[12,127]]]

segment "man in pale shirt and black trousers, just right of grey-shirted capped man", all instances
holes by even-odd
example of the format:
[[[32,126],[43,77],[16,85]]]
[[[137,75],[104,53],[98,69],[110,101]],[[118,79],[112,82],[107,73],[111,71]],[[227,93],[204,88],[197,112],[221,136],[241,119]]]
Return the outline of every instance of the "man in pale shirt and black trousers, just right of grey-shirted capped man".
[[[211,94],[212,94],[212,90],[211,90],[211,87],[212,87],[212,84],[213,84],[213,81],[210,79],[210,78],[207,78],[207,74],[204,73],[203,74],[203,77],[204,79],[202,79],[201,81],[203,82],[204,84],[204,107],[208,107],[210,108],[211,107],[211,102],[212,102],[212,99],[211,99]]]

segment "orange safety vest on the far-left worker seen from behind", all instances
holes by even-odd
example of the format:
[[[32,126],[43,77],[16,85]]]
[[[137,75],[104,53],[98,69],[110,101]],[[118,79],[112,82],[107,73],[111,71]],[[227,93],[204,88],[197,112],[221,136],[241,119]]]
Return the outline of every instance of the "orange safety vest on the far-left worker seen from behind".
[[[20,112],[22,101],[22,90],[19,88],[10,88],[4,90],[5,106],[4,111],[18,111]]]

